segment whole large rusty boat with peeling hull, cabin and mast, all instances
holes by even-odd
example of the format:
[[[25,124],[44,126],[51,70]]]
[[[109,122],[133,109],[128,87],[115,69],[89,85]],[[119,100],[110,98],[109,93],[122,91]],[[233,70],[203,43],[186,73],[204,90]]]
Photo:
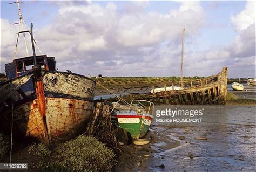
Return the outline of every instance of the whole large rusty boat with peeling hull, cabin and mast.
[[[8,81],[0,84],[0,127],[10,133],[13,124],[15,137],[48,144],[69,140],[84,132],[93,113],[96,82],[57,71],[54,57],[36,56],[32,23],[31,31],[18,32],[18,37],[25,32],[31,35],[33,56],[5,64]]]

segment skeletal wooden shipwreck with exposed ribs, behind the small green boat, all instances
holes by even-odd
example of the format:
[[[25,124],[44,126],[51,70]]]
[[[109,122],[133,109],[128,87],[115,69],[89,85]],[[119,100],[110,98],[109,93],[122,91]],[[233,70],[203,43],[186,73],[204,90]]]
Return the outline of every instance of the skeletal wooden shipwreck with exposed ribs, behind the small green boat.
[[[183,84],[183,85],[182,85]],[[212,77],[184,81],[181,90],[147,94],[127,94],[125,99],[143,99],[171,105],[225,105],[227,95],[227,67]]]

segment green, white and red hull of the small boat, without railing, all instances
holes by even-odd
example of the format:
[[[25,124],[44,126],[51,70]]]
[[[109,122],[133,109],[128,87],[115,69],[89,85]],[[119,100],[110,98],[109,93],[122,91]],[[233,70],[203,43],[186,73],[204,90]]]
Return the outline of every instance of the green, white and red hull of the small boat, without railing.
[[[153,116],[146,114],[117,114],[113,116],[114,123],[131,134],[133,139],[140,139],[147,134],[153,121]]]

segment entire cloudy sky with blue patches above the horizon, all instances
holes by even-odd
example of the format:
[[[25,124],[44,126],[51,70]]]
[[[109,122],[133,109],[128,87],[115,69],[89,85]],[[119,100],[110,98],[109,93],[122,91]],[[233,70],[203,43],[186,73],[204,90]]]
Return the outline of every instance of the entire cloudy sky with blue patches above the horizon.
[[[1,72],[14,59],[17,4],[1,2]],[[43,52],[59,71],[107,76],[180,74],[255,77],[254,2],[56,2],[21,4]],[[21,37],[22,38],[22,37]],[[30,55],[31,43],[29,44]],[[24,57],[20,39],[17,57]],[[37,51],[37,54],[39,52]]]

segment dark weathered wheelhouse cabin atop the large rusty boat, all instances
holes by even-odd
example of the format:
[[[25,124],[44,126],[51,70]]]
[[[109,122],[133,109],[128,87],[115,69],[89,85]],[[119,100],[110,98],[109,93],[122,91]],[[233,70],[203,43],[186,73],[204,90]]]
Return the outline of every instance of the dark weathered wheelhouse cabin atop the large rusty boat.
[[[37,65],[41,65],[42,71],[56,71],[55,57],[46,55],[36,56]],[[33,71],[33,56],[15,59],[12,63],[5,64],[5,73],[8,80],[28,74]]]

